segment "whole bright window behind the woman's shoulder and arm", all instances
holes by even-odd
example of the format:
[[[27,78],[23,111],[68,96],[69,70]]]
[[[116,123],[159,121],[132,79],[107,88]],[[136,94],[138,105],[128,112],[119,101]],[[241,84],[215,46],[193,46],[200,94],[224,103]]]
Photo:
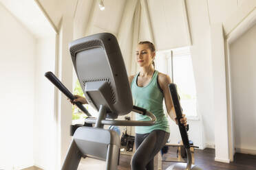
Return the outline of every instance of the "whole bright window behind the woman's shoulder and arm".
[[[156,69],[171,77],[178,86],[180,104],[186,117],[197,116],[195,79],[189,47],[158,51]]]

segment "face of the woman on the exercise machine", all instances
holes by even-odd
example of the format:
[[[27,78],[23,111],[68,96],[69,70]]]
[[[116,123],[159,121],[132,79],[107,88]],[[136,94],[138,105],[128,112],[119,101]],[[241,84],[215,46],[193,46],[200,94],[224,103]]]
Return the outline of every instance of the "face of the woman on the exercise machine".
[[[155,52],[152,52],[147,44],[137,46],[136,60],[139,66],[149,66],[150,64],[152,64],[154,57]]]

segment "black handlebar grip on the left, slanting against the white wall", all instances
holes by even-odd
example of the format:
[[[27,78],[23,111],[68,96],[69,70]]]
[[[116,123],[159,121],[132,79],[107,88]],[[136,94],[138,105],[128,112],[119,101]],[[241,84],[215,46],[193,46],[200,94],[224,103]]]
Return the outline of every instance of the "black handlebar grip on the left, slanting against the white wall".
[[[56,88],[58,88],[58,90],[61,90],[61,92],[64,93],[64,95],[66,95],[69,99],[71,99],[72,101],[76,99],[76,97],[74,97],[74,95],[70,92],[70,90],[68,90],[64,86],[64,84],[62,84],[62,82],[58,80],[58,78],[54,75],[54,73],[52,73],[51,71],[48,71],[45,73],[45,77],[47,77],[47,79],[50,80],[50,82],[52,82],[52,84],[54,84]],[[88,117],[92,117],[92,115],[89,114],[88,110],[83,106],[83,104],[81,104],[81,102],[75,102],[75,104],[85,114],[87,114]]]

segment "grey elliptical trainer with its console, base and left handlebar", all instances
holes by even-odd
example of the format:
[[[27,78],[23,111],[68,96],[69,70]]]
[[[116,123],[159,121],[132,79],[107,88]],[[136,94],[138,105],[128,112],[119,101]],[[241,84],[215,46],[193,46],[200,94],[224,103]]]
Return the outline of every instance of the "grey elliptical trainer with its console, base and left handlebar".
[[[104,125],[147,126],[156,122],[156,117],[133,106],[131,88],[125,63],[113,34],[103,33],[87,36],[70,43],[70,54],[78,80],[88,104],[98,110],[98,117],[91,114],[79,102],[76,106],[85,114],[85,125],[74,130],[62,169],[77,169],[81,158],[91,157],[106,161],[107,170],[116,170],[120,148],[120,136],[114,130],[105,130]],[[47,77],[69,99],[75,97],[51,72]],[[118,116],[134,111],[148,116],[149,121],[120,121]],[[94,124],[94,127],[89,127]]]

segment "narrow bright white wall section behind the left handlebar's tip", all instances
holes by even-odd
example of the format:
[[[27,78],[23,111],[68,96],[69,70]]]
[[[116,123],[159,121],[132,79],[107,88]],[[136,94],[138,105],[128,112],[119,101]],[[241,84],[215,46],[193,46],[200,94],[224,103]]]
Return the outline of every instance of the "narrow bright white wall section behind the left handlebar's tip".
[[[34,165],[42,169],[54,169],[56,162],[54,86],[44,76],[55,72],[55,47],[55,35],[36,40]]]

